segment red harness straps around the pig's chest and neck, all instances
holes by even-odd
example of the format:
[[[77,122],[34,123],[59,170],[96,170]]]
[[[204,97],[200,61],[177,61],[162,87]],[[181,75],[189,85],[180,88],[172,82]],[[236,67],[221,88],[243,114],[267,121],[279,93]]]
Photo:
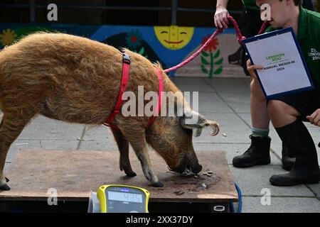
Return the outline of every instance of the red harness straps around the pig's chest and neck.
[[[107,122],[103,123],[105,126],[117,128],[116,125],[112,124],[112,121],[114,120],[115,116],[120,113],[121,107],[122,107],[122,94],[126,91],[128,80],[129,80],[129,67],[130,67],[131,59],[130,56],[127,54],[123,54],[122,57],[122,79],[121,79],[121,85],[120,85],[120,91],[117,98],[117,102],[114,105],[114,109],[112,110],[109,118],[107,118]],[[156,116],[159,115],[161,111],[161,101],[163,98],[163,91],[164,91],[164,80],[162,78],[162,72],[159,69],[156,69],[159,79],[159,93],[158,93],[158,101],[156,102],[156,108],[154,109],[154,114],[151,116],[148,124],[146,125],[146,129],[151,126],[151,124],[154,122],[154,119]]]

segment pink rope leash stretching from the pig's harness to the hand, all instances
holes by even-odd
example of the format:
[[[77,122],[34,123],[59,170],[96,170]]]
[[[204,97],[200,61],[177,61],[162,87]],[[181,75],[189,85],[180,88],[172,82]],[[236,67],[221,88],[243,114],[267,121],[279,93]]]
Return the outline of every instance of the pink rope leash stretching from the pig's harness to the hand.
[[[228,19],[229,21],[231,21],[233,23],[233,26],[235,28],[235,33],[238,37],[238,43],[240,45],[242,45],[242,40],[245,39],[245,36],[242,36],[241,34],[241,31],[239,29],[239,26],[238,26],[238,23],[237,21],[235,21],[235,19],[232,17],[232,16],[228,16]],[[268,25],[268,21],[265,21],[261,28],[260,28],[260,31],[258,33],[258,35],[262,34],[264,31],[265,31],[265,28],[267,28],[267,25]],[[223,28],[218,28],[212,35],[211,37],[206,41],[205,44],[203,44],[203,46],[197,50],[193,55],[191,55],[190,57],[188,57],[188,59],[184,60],[183,62],[181,62],[180,64],[174,66],[174,67],[170,67],[169,69],[166,69],[164,70],[164,72],[168,73],[168,72],[171,72],[171,71],[174,71],[174,70],[178,70],[178,68],[181,68],[183,67],[184,65],[187,65],[188,62],[191,62],[194,58],[196,58],[200,53],[201,51],[206,48],[206,46],[219,34],[219,33],[222,33],[223,32]]]

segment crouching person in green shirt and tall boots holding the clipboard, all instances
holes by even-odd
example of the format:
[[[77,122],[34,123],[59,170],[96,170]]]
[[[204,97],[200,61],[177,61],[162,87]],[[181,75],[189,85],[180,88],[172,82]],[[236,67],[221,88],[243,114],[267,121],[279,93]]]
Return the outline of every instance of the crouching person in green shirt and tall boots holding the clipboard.
[[[302,0],[257,0],[257,5],[270,4],[271,21],[267,31],[279,28],[294,29],[299,45],[311,73],[315,89],[265,100],[255,70],[261,65],[251,65],[247,70],[252,77],[252,96],[267,106],[272,124],[279,138],[288,148],[290,157],[296,157],[292,170],[284,175],[273,175],[270,183],[276,186],[314,184],[320,181],[319,162],[314,140],[302,121],[320,126],[320,13],[303,9]],[[262,112],[265,109],[262,107]]]

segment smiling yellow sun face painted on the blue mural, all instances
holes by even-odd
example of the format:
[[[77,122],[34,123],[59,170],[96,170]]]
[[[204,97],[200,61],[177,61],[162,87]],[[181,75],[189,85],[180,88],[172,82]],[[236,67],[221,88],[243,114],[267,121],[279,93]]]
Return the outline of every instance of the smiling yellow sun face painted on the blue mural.
[[[178,50],[186,46],[193,36],[193,31],[193,27],[154,26],[156,38],[171,50]]]

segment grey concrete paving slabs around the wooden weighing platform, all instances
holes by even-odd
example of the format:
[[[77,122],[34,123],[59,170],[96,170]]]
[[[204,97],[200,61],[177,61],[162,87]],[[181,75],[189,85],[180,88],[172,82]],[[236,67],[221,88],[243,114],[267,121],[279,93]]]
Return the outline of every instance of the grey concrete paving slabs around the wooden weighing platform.
[[[242,212],[319,212],[320,184],[274,187],[271,175],[284,173],[281,167],[281,142],[270,127],[271,165],[239,169],[232,165],[235,155],[250,145],[249,78],[181,78],[173,79],[182,91],[199,92],[199,112],[220,123],[221,132],[209,132],[194,139],[195,150],[223,150],[233,179],[242,190]],[[320,141],[320,128],[306,123],[315,143]],[[86,128],[43,116],[34,118],[11,145],[6,170],[19,150],[117,150],[110,130],[105,126]],[[320,148],[318,148],[320,157]],[[268,198],[268,194],[271,195]],[[235,204],[237,206],[237,204]]]

